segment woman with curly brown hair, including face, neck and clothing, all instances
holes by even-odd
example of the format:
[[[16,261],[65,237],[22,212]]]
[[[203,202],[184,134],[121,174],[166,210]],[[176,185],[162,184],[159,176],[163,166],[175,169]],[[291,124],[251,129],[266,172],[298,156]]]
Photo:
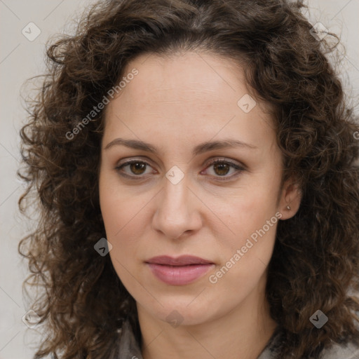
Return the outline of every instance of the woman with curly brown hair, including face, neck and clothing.
[[[36,358],[359,357],[358,125],[301,8],[101,1],[48,48]]]

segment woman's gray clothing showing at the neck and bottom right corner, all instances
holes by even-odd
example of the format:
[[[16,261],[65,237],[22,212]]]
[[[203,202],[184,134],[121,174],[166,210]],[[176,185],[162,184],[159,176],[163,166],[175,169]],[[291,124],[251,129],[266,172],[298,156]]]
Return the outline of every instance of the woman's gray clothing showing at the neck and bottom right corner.
[[[273,359],[278,347],[278,334],[273,334],[262,353],[257,359]],[[140,344],[135,339],[130,323],[123,323],[121,339],[119,341],[118,359],[143,359]],[[334,344],[332,348],[323,351],[321,358],[323,359],[359,359],[359,347],[354,344],[339,345]]]

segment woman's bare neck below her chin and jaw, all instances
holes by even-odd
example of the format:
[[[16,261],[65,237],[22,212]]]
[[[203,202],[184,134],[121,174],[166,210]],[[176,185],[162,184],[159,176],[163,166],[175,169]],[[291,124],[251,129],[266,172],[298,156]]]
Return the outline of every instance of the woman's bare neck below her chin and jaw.
[[[144,359],[256,359],[276,323],[264,295],[253,292],[226,316],[172,327],[137,304]],[[259,300],[262,299],[262,300]]]

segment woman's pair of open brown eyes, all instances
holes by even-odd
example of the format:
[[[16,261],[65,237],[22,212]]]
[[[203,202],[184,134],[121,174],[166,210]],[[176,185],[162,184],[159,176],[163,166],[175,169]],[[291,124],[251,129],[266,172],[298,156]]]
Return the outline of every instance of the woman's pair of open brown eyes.
[[[144,175],[147,170],[147,167],[151,167],[151,165],[149,165],[149,163],[147,162],[131,160],[121,165],[118,165],[115,169],[120,175],[124,177],[134,178],[134,177],[141,177],[141,175]],[[215,173],[214,177],[224,177],[223,179],[228,179],[230,177],[233,177],[236,175],[236,172],[242,172],[244,170],[244,168],[241,165],[238,165],[237,163],[233,163],[228,160],[224,161],[218,159],[212,161],[212,163],[210,163],[206,167],[206,170],[211,167],[213,168],[213,172]],[[123,170],[124,168],[129,168],[130,173],[124,171]],[[227,176],[231,169],[233,170],[234,174]],[[222,178],[218,178],[218,179],[223,180]]]

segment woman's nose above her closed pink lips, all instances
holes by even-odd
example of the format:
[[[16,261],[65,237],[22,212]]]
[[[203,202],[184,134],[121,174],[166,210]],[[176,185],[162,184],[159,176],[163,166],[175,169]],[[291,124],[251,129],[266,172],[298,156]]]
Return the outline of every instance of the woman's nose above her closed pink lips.
[[[179,239],[188,236],[202,226],[201,201],[187,184],[187,176],[177,184],[167,178],[156,202],[153,217],[154,230],[163,233],[166,238]]]

